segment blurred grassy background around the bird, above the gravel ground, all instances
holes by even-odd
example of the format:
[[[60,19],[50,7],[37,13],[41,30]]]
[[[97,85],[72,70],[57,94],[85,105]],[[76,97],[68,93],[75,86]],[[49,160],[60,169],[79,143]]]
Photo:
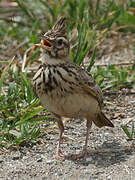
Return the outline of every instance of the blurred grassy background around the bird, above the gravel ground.
[[[40,42],[39,35],[63,15],[67,17],[71,60],[91,71],[106,95],[123,89],[135,93],[134,0],[0,0],[1,149],[34,144],[41,129],[55,123],[33,95],[32,77],[40,52],[30,50]],[[124,45],[130,47],[132,57],[112,58],[112,51],[121,43],[118,37],[127,36],[130,41]],[[134,124],[122,128],[134,139]]]

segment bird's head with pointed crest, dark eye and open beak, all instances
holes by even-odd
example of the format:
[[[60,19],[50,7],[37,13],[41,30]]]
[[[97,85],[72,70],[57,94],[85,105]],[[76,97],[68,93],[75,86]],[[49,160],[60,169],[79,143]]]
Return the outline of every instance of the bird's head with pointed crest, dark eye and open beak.
[[[42,54],[50,58],[65,59],[69,54],[65,17],[61,17],[51,30],[41,36]]]

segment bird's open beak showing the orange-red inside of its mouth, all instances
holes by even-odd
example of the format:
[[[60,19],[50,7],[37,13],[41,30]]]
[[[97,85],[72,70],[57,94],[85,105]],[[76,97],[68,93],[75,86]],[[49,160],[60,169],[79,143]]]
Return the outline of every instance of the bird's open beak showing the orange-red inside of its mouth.
[[[50,51],[52,47],[51,40],[49,40],[48,37],[45,37],[44,35],[41,35],[41,48]]]

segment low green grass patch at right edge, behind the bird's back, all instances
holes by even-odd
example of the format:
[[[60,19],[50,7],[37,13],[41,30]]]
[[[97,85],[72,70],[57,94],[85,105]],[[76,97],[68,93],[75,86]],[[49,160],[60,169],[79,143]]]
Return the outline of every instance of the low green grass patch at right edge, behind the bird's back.
[[[128,68],[117,68],[114,65],[108,65],[106,68],[98,66],[93,75],[103,91],[116,92],[122,88],[135,88],[135,63]]]

